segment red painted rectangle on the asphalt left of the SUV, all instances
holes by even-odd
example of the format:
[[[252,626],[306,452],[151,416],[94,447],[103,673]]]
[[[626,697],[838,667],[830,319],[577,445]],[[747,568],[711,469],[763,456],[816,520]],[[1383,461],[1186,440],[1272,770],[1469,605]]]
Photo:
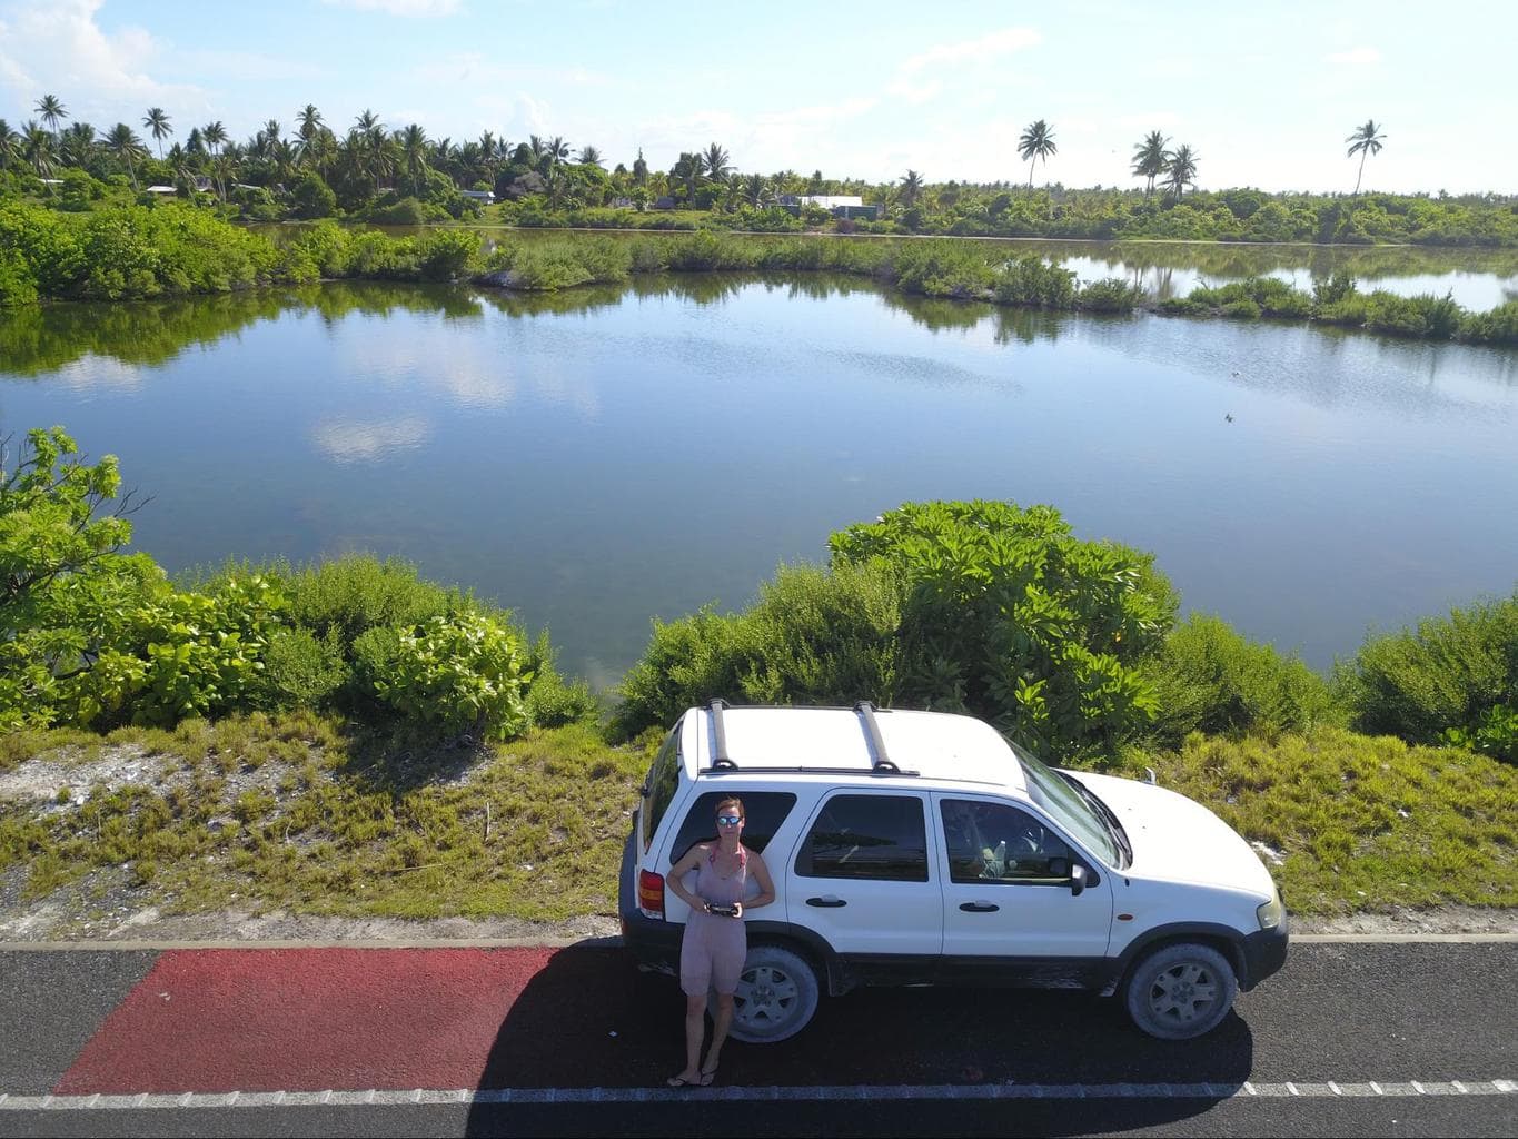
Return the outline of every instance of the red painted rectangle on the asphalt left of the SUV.
[[[594,999],[574,983],[589,970],[625,992],[625,972],[607,966],[606,954],[551,949],[165,952],[55,1090],[478,1087],[487,1068],[531,1083],[562,1066],[545,1062],[566,981]],[[531,999],[534,978],[553,973],[559,995]]]

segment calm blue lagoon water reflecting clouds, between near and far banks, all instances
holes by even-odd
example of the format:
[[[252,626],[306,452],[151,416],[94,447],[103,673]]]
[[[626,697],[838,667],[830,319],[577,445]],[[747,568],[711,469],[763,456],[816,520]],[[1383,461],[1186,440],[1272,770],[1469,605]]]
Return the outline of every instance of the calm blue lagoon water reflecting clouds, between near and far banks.
[[[50,424],[120,456],[170,570],[399,554],[597,685],[650,618],[742,606],[905,500],[1052,503],[1319,668],[1518,583],[1518,352],[1299,325],[818,276],[0,316],[0,433]]]

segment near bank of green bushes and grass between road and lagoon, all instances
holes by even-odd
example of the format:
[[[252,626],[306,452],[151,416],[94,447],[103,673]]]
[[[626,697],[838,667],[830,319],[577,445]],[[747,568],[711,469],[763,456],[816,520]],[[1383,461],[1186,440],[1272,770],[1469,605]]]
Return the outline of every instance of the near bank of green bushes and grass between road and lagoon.
[[[367,556],[170,580],[109,456],[0,474],[0,887],[87,913],[610,913],[674,717],[738,702],[979,715],[1255,844],[1298,913],[1518,905],[1518,592],[1331,676],[1178,623],[1152,554],[1058,510],[908,503],[747,611],[654,623],[615,706],[507,611]]]

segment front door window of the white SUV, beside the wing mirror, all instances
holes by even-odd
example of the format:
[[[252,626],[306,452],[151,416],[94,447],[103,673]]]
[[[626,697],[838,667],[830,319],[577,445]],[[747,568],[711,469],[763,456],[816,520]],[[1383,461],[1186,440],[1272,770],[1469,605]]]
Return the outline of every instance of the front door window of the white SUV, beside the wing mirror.
[[[1070,881],[1070,847],[1028,811],[1006,803],[943,799],[952,882],[1023,885]]]

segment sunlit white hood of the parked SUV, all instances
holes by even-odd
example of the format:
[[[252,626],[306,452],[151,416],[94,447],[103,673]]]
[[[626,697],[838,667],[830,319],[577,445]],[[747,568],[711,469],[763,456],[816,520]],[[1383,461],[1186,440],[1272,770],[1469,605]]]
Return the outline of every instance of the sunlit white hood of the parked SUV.
[[[1110,775],[1072,771],[1122,820],[1134,849],[1125,873],[1271,898],[1264,863],[1228,823],[1184,794]]]

